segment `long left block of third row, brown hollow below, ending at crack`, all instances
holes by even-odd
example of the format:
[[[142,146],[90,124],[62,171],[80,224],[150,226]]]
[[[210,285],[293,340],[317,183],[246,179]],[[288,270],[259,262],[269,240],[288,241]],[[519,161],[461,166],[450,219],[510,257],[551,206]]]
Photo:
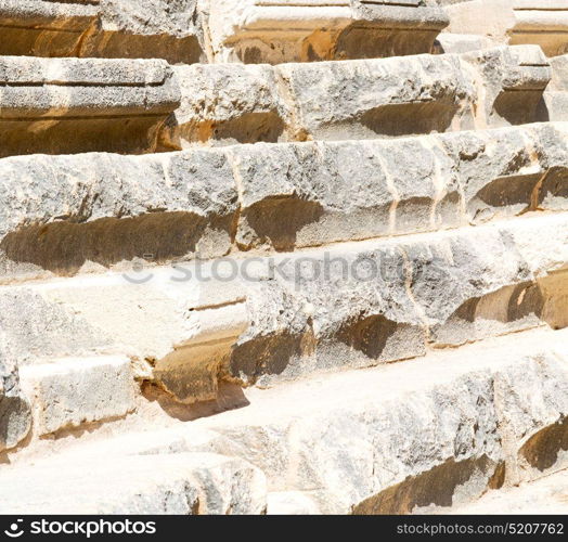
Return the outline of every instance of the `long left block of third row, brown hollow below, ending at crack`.
[[[9,275],[197,251],[212,258],[230,248],[237,195],[222,154],[14,157],[0,169]]]

